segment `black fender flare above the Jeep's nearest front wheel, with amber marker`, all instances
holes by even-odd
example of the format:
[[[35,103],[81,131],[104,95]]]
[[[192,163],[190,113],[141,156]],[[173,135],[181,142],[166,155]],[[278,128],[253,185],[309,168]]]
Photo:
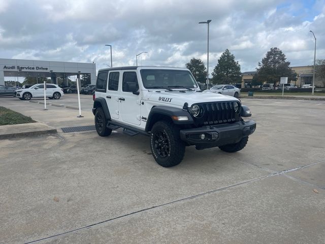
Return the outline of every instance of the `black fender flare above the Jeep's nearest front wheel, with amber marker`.
[[[178,121],[172,119],[172,116],[187,116],[188,120]],[[163,117],[169,117],[176,125],[194,124],[193,118],[187,110],[168,106],[155,106],[150,110],[145,131],[150,131],[154,123]]]

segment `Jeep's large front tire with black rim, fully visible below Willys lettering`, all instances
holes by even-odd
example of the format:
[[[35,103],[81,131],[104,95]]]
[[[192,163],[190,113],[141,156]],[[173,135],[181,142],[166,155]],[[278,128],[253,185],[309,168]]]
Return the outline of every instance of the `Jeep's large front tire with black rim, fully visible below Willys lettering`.
[[[179,127],[171,121],[161,120],[153,125],[150,133],[150,149],[160,166],[172,167],[183,160],[185,143],[180,139],[179,130]]]

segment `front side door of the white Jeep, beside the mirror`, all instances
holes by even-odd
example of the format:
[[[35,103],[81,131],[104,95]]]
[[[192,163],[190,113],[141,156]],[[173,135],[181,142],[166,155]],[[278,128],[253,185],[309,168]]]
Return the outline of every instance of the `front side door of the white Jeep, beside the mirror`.
[[[139,95],[133,94],[132,87],[139,89],[139,83],[137,79],[137,72],[124,71],[122,75],[122,89],[119,93],[119,110],[121,120],[126,123],[134,125],[140,125],[140,98]]]

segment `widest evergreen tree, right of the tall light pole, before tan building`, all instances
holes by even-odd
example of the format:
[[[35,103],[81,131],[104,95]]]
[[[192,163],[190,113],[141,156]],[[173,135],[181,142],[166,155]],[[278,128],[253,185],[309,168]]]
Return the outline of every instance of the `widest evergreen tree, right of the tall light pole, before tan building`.
[[[290,67],[290,62],[286,61],[285,55],[277,47],[272,47],[262,59],[262,63],[258,62],[257,73],[254,75],[254,80],[259,83],[273,83],[275,86],[280,82],[281,77],[288,77],[288,81],[297,80],[297,73]]]

